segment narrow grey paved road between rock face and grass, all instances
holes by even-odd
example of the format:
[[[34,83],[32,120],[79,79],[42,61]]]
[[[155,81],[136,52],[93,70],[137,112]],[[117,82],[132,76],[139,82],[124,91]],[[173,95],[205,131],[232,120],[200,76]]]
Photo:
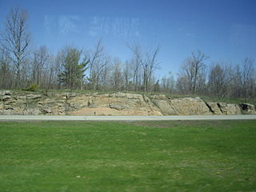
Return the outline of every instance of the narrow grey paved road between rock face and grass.
[[[184,115],[184,116],[53,116],[0,115],[0,121],[174,121],[174,120],[248,120],[256,115]]]

